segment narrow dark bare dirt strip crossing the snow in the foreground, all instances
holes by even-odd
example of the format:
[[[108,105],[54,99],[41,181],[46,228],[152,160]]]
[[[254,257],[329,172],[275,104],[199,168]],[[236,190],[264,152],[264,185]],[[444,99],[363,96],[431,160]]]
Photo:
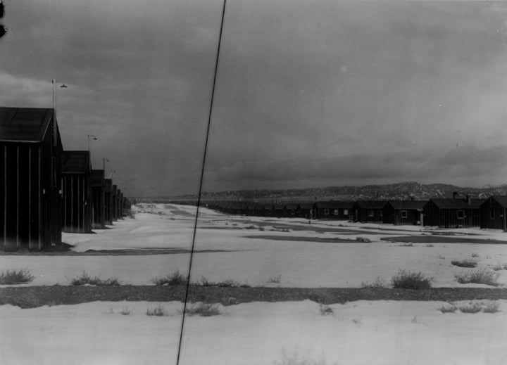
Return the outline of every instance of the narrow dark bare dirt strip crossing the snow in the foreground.
[[[35,308],[44,305],[75,305],[86,302],[184,301],[185,286],[25,286],[0,288],[0,305]],[[237,305],[248,302],[312,300],[331,305],[358,300],[507,300],[507,288],[223,288],[190,286],[189,302]]]

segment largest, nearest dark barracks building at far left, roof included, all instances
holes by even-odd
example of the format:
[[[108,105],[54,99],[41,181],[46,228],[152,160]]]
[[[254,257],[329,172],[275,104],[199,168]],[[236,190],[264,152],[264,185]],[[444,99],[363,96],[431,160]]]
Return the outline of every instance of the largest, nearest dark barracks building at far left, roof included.
[[[53,109],[0,107],[0,249],[61,243],[61,155]]]

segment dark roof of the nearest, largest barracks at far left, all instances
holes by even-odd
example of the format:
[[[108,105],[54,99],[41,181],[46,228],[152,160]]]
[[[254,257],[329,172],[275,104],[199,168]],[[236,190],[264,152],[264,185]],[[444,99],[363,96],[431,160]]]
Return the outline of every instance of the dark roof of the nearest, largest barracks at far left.
[[[53,115],[49,108],[0,107],[0,141],[40,142]]]

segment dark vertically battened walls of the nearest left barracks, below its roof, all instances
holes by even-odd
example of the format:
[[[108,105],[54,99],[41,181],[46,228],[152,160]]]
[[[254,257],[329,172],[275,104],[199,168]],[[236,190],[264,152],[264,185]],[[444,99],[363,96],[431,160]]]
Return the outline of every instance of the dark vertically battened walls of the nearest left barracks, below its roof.
[[[40,143],[0,143],[4,250],[40,250],[61,243],[61,141],[54,128],[51,120]]]

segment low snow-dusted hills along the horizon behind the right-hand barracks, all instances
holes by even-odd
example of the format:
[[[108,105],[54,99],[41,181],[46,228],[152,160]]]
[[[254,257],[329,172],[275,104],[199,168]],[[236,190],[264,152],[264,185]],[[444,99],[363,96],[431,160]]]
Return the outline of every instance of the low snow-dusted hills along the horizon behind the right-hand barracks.
[[[472,198],[488,198],[491,195],[507,195],[507,184],[483,186],[482,188],[462,188],[449,184],[425,185],[409,181],[387,185],[220,191],[218,193],[203,193],[201,200],[428,200],[430,198],[452,198],[454,192],[458,193],[460,198],[465,198],[467,195]],[[194,200],[197,196],[186,195],[178,198],[182,200]],[[173,198],[173,200],[176,199]]]

